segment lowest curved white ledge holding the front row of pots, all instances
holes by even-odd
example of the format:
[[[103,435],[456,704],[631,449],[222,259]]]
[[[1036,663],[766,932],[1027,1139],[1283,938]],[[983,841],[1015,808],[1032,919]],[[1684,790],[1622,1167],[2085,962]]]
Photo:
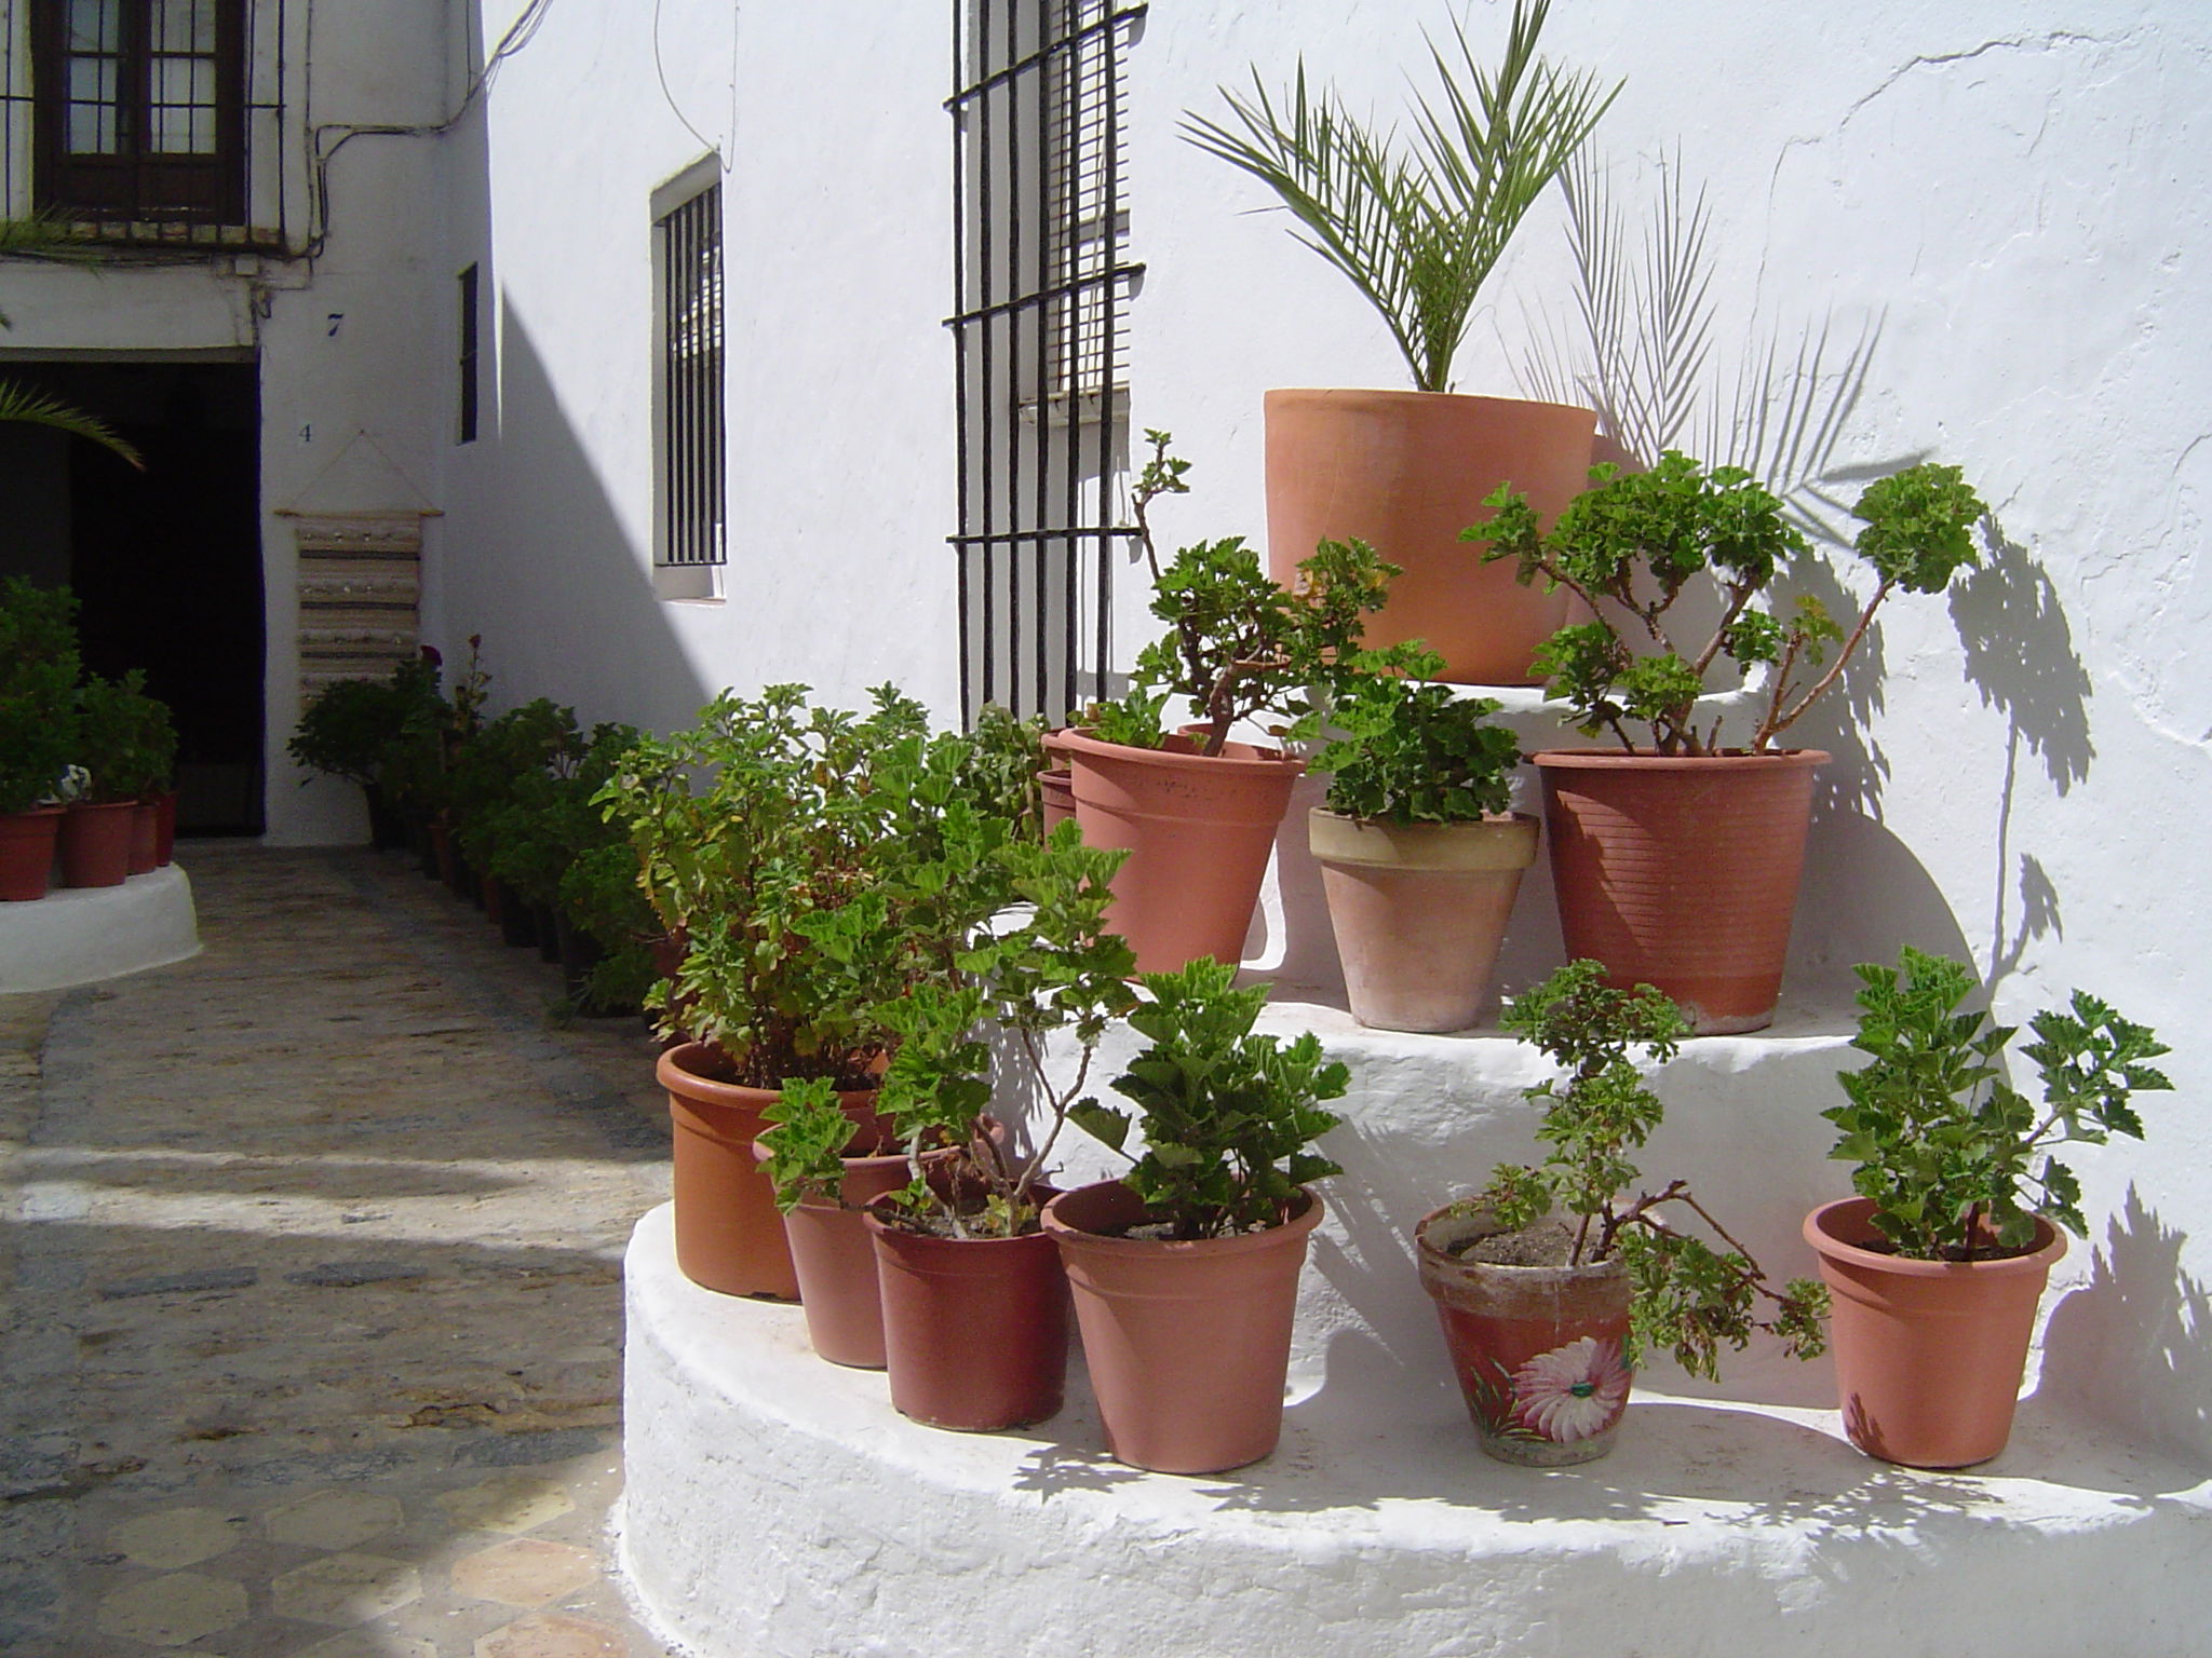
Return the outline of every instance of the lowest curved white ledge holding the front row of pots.
[[[1411,1269],[1407,1269],[1411,1271]],[[1203,1479],[1106,1461],[1075,1379],[1020,1435],[898,1417],[799,1309],[628,1249],[622,1561],[708,1658],[2199,1654],[2212,1479],[2037,1399],[1966,1475],[1887,1468],[1834,1410],[1639,1391],[1619,1448],[1548,1472],[1475,1450],[1431,1364],[1294,1386],[1283,1446]]]

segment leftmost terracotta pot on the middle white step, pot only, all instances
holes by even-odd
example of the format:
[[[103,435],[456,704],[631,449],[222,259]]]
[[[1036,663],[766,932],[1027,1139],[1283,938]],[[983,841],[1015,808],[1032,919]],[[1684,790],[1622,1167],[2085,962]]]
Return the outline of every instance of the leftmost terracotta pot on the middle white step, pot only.
[[[1137,953],[1137,973],[1170,973],[1210,955],[1243,959],[1252,906],[1305,769],[1276,749],[1230,743],[1203,756],[1190,736],[1164,749],[1062,734],[1075,772],[1086,847],[1128,849],[1106,926]]]

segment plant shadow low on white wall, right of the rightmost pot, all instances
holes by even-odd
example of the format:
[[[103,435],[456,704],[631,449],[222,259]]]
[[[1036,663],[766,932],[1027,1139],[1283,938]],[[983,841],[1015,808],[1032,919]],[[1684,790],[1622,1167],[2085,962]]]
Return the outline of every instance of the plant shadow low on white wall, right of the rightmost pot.
[[[2183,1242],[2130,1185],[2051,1311],[2037,1393],[2212,1463],[2212,1289],[2181,1271]]]

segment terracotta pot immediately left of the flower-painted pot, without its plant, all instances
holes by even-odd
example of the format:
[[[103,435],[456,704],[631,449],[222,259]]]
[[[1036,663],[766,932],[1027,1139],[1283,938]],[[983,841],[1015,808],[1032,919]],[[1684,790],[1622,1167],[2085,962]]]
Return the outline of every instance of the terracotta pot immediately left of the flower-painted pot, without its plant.
[[[1201,1242],[1110,1236],[1144,1218],[1119,1180],[1046,1205],[1117,1461],[1210,1475],[1274,1450],[1298,1271],[1321,1225],[1321,1198],[1298,1196],[1281,1227]]]

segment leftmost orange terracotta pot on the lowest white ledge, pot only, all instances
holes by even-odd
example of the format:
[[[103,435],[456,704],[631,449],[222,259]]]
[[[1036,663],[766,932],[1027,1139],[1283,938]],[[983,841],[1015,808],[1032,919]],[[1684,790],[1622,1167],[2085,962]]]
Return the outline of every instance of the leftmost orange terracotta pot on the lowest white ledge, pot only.
[[[675,1123],[677,1267],[723,1295],[796,1300],[799,1278],[776,1194],[752,1158],[752,1141],[765,1127],[761,1110],[776,1092],[717,1083],[703,1074],[706,1066],[708,1048],[688,1041],[653,1068],[668,1090]],[[856,1130],[874,1125],[874,1090],[838,1094],[838,1101]]]

